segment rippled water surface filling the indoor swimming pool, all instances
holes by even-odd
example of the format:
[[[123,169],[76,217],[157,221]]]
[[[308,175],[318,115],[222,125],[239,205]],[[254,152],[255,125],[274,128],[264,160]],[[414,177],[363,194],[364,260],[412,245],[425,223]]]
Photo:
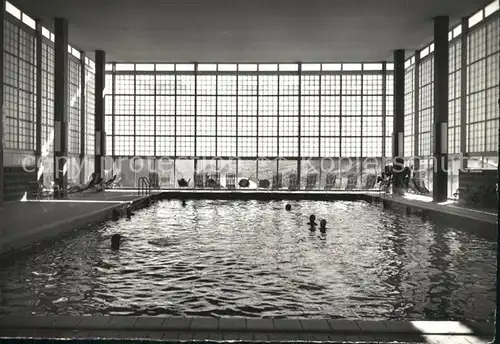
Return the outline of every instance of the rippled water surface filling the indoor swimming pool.
[[[80,230],[4,262],[0,312],[493,319],[493,242],[364,202],[291,204],[164,201]]]

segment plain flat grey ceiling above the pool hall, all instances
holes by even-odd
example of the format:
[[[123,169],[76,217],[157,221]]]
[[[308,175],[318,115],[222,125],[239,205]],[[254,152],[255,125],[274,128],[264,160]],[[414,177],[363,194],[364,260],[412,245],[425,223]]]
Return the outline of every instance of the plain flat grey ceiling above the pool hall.
[[[108,61],[354,62],[392,60],[488,0],[9,0],[75,47]]]

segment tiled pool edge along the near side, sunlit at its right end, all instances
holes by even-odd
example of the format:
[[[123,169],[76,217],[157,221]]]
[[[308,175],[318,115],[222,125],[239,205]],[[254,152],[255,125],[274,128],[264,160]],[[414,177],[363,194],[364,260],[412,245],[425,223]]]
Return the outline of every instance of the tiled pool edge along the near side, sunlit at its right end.
[[[215,318],[173,316],[0,315],[0,330],[96,330],[180,332],[299,332],[393,335],[493,335],[490,323],[458,321]],[[1,333],[1,331],[0,331]]]

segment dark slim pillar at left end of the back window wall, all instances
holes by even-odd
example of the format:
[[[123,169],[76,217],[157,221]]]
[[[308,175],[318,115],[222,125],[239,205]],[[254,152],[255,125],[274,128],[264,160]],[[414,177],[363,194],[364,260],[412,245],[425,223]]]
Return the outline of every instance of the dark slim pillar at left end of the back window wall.
[[[104,88],[106,87],[106,53],[95,52],[95,173],[100,178],[103,173],[102,158],[106,154],[106,127]]]

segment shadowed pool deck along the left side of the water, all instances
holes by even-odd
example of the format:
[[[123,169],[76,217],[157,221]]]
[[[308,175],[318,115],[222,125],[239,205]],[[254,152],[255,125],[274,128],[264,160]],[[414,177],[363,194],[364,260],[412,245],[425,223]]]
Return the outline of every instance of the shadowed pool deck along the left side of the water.
[[[25,201],[0,208],[0,256],[86,225],[106,221],[112,210],[144,201],[137,192],[100,192],[68,199]]]

